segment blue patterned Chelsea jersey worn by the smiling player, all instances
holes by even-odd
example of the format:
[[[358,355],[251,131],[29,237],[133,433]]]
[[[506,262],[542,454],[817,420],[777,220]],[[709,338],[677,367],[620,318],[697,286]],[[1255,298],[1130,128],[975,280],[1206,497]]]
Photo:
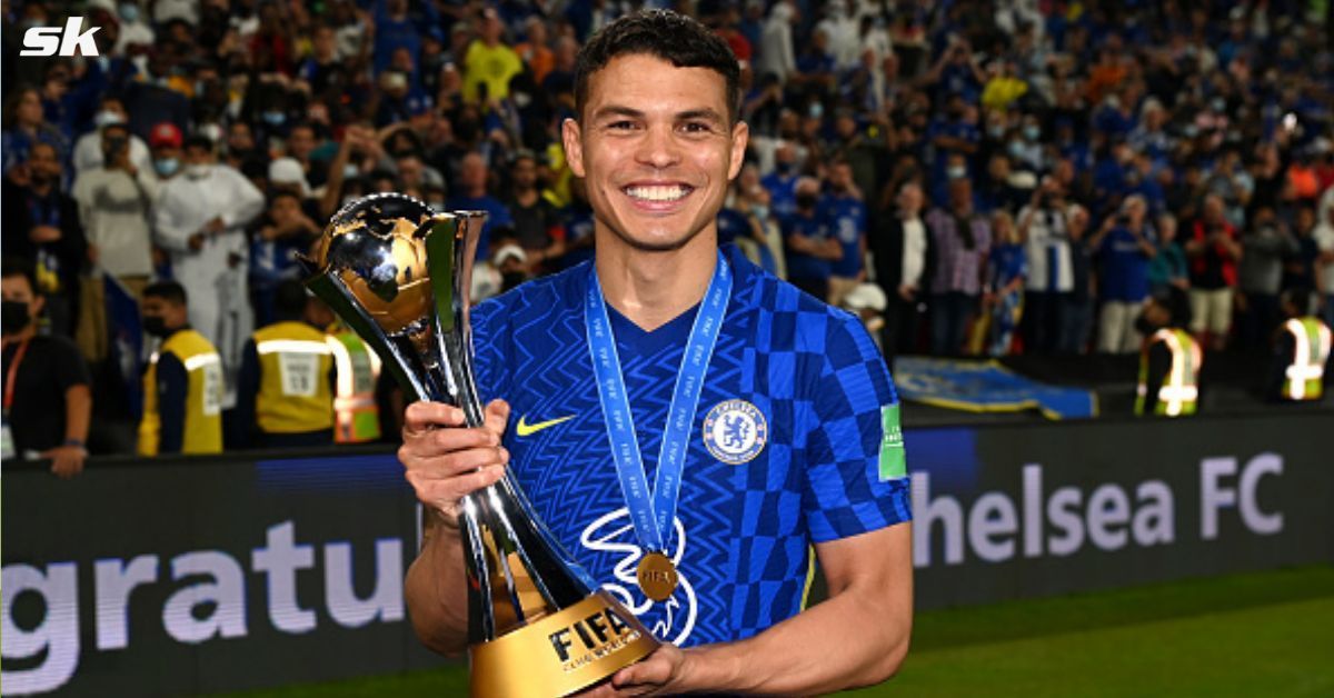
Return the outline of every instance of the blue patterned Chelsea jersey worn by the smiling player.
[[[590,263],[472,312],[479,390],[512,407],[504,446],[538,515],[603,589],[659,638],[682,646],[747,638],[795,615],[811,543],[911,516],[907,480],[878,475],[880,407],[898,396],[860,323],[734,247],[724,251],[736,276],[668,543],[682,582],[662,603],[635,585],[642,551],[610,456],[584,331]],[[652,482],[695,310],[652,332],[610,315]],[[702,424],[712,407],[738,399],[763,415],[768,434],[758,455],[731,464],[708,451]],[[520,436],[520,420],[536,431]]]

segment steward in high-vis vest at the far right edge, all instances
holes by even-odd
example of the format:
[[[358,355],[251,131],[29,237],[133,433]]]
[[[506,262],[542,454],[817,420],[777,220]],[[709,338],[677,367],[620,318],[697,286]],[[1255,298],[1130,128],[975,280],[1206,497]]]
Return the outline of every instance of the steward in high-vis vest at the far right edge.
[[[1274,336],[1270,395],[1282,402],[1319,402],[1330,363],[1330,328],[1310,315],[1313,294],[1287,291],[1282,307],[1287,320]]]

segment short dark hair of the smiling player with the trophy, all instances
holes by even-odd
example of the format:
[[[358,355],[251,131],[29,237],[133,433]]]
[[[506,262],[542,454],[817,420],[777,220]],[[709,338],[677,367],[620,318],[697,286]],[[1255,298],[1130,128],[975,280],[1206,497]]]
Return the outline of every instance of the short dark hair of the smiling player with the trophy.
[[[740,64],[731,47],[698,20],[670,9],[646,9],[612,21],[575,59],[575,113],[582,119],[588,80],[618,56],[644,53],[678,68],[708,68],[727,83],[727,116],[740,111]]]

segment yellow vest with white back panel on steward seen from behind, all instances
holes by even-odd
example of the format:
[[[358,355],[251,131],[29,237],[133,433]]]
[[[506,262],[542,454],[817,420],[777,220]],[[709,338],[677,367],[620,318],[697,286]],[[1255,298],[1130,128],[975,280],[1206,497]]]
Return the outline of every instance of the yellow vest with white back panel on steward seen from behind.
[[[264,434],[334,428],[329,370],[334,352],[324,332],[299,322],[273,323],[251,335],[259,354],[255,422]]]

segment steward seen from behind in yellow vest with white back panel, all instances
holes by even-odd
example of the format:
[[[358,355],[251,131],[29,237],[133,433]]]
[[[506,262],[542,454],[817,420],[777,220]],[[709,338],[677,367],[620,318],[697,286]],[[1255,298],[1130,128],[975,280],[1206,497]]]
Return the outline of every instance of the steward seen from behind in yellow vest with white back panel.
[[[275,298],[279,322],[251,335],[236,384],[237,444],[265,448],[334,443],[334,352],[321,330],[304,322],[299,282]]]

